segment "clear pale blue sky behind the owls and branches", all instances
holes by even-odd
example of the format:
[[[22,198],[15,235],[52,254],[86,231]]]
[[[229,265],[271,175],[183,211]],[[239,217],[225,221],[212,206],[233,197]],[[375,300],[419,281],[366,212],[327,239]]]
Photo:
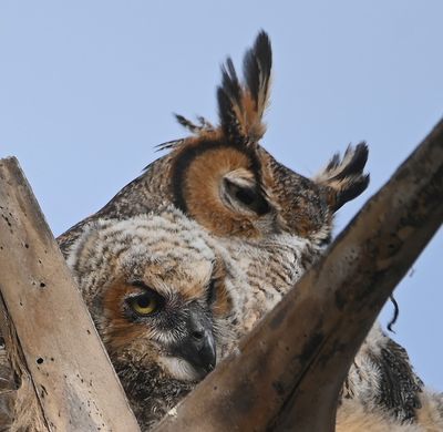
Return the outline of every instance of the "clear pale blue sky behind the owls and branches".
[[[18,156],[59,235],[184,135],[172,112],[216,120],[220,62],[239,64],[265,29],[266,148],[312,175],[369,144],[371,185],[340,210],[341,229],[443,114],[442,17],[441,0],[0,0],[0,156]],[[395,292],[394,336],[439,390],[442,253],[440,232]]]

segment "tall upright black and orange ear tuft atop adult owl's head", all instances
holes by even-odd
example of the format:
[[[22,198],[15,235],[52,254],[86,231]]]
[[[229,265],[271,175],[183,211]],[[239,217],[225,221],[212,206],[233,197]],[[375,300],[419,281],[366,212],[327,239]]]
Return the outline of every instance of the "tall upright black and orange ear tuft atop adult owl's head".
[[[218,114],[225,136],[238,144],[257,143],[266,132],[262,115],[269,101],[272,51],[261,31],[244,58],[245,82],[240,83],[231,59],[222,68],[217,90]]]

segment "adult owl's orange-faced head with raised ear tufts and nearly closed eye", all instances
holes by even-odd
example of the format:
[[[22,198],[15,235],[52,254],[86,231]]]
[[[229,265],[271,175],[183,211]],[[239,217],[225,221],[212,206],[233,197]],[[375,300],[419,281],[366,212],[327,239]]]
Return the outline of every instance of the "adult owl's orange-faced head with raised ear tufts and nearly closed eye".
[[[222,70],[217,90],[219,125],[204,119],[179,123],[193,136],[163,145],[172,148],[174,204],[217,236],[260,238],[287,232],[328,241],[333,214],[368,186],[368,147],[334,155],[315,178],[278,163],[260,145],[269,101],[271,47],[260,32],[244,59],[244,81],[233,61]]]

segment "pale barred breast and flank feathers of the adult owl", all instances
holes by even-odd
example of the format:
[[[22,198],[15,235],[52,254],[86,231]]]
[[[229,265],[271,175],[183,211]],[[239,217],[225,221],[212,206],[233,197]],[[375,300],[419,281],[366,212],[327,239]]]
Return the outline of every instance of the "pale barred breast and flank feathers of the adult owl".
[[[275,235],[267,241],[217,243],[245,275],[246,295],[235,332],[240,336],[250,331],[277,302],[285,301],[285,294],[322,251],[322,247],[312,247],[310,241],[287,234]],[[244,285],[233,284],[234,289],[241,290]],[[418,420],[422,392],[423,383],[414,373],[408,353],[375,322],[349,370],[341,400],[346,407],[353,405],[356,412],[390,419],[389,422],[400,428]],[[338,419],[337,430],[348,431],[341,422],[349,418],[339,415]],[[443,416],[440,421],[443,426]]]

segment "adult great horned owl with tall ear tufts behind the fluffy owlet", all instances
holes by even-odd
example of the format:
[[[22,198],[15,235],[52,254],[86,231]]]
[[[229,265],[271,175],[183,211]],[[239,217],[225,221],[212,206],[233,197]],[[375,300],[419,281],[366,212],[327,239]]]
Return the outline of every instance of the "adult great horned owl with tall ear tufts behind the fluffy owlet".
[[[336,155],[312,179],[269,155],[258,144],[265,133],[262,114],[271,70],[266,33],[258,35],[244,64],[244,83],[230,60],[223,70],[217,91],[219,126],[205,120],[195,125],[177,116],[194,135],[163,145],[169,154],[151,164],[105,207],[63,234],[59,241],[66,255],[87,222],[100,217],[126,219],[172,204],[209,230],[248,274],[251,295],[243,316],[247,330],[281,299],[328,245],[334,212],[365,189],[369,176],[363,174],[368,156],[364,144],[349,147],[342,158]],[[271,263],[278,270],[264,275],[264,263]],[[265,276],[274,279],[264,286]],[[360,366],[357,372],[351,370],[344,394],[364,394],[370,403],[383,405],[400,420],[414,418],[420,383],[408,358],[399,356],[401,350],[392,349],[396,346],[377,327],[373,332],[367,349],[356,359]],[[383,349],[372,349],[373,341]],[[370,364],[367,378],[361,373],[362,364]],[[399,380],[392,381],[392,377]],[[383,391],[385,380],[392,388]]]

